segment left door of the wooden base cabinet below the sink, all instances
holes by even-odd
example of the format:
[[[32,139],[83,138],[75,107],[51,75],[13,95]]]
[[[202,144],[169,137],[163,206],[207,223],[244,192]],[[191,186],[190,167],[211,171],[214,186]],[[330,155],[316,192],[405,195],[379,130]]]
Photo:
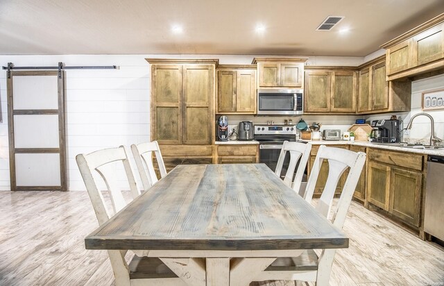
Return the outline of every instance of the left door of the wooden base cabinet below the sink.
[[[367,194],[368,202],[388,210],[388,190],[390,188],[390,167],[368,162]]]

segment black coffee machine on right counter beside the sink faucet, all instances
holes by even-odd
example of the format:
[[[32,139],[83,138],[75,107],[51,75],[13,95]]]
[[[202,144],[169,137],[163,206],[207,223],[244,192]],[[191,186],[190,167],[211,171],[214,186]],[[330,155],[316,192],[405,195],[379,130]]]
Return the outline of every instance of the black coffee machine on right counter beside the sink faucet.
[[[373,120],[371,126],[373,127],[373,131],[370,133],[371,142],[398,143],[401,141],[399,120]]]

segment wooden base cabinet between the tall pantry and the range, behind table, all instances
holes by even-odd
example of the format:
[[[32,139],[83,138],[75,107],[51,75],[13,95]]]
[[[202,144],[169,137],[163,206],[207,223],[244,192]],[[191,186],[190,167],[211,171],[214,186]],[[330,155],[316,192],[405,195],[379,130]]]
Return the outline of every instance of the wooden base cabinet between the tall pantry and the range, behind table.
[[[216,164],[249,164],[259,162],[259,145],[216,145]]]

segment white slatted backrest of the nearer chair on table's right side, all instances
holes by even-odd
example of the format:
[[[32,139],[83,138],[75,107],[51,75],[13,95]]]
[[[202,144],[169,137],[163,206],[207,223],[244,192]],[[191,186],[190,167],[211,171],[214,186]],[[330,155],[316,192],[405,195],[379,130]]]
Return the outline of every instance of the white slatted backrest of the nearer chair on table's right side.
[[[336,191],[339,180],[341,180],[342,174],[348,171],[339,202],[332,214],[332,223],[336,227],[342,228],[359,176],[361,176],[362,168],[366,162],[366,153],[321,145],[314,159],[314,164],[311,168],[305,189],[304,198],[308,203],[311,203],[311,199],[313,198],[319,171],[321,170],[323,162],[328,164],[328,176],[321,198],[319,198],[316,204],[316,210],[327,218],[332,208],[334,192]]]

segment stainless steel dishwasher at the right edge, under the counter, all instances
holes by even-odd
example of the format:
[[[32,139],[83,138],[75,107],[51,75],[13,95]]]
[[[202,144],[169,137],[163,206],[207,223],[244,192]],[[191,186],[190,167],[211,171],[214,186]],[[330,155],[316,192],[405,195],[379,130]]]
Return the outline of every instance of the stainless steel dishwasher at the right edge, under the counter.
[[[424,231],[444,240],[444,157],[429,155],[425,188]]]

